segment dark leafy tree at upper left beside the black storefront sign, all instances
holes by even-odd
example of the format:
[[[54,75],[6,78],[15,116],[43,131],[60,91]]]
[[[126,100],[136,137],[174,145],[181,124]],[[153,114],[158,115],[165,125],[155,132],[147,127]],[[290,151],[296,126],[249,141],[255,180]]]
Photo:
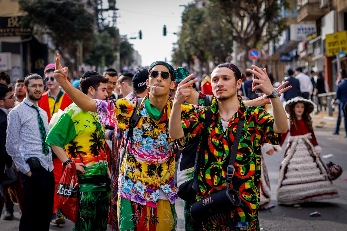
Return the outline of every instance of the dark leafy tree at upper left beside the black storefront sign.
[[[19,7],[27,13],[25,19],[34,26],[34,33],[51,37],[66,65],[76,63],[78,42],[83,41],[84,53],[92,47],[94,16],[85,5],[69,1],[19,0]]]

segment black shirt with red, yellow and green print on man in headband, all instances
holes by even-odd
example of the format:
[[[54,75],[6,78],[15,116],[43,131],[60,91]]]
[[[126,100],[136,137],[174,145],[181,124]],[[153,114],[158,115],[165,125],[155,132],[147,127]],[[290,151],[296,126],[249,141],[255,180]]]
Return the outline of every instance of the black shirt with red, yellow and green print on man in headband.
[[[220,190],[226,189],[226,169],[229,164],[232,142],[236,133],[239,118],[245,117],[241,132],[235,173],[231,188],[234,188],[241,199],[241,205],[228,216],[218,220],[206,221],[204,230],[222,230],[222,227],[235,227],[235,230],[259,230],[258,211],[260,199],[261,145],[263,143],[279,144],[280,136],[273,132],[273,117],[260,107],[245,107],[241,97],[240,107],[228,124],[226,131],[218,112],[218,104],[214,99],[211,105],[212,124],[208,139],[204,144],[204,166],[200,168],[198,182],[200,192],[197,200],[205,198]],[[180,146],[201,142],[205,124],[205,107],[183,105],[182,127],[185,136],[178,140]],[[194,110],[192,114],[192,110]]]

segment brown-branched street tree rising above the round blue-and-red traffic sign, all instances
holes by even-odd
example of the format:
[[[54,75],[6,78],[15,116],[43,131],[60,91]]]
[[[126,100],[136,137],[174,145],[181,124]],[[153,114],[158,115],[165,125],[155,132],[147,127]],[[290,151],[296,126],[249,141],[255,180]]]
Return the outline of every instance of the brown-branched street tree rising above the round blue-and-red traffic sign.
[[[231,38],[244,50],[241,68],[245,70],[247,51],[258,44],[266,44],[287,28],[286,19],[281,17],[286,0],[212,0],[220,12],[223,26]]]

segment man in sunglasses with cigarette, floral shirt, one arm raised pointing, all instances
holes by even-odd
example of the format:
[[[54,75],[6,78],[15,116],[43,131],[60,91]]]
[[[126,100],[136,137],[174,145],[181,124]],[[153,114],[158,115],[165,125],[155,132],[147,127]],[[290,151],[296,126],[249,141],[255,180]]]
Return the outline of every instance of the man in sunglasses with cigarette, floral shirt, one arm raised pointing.
[[[136,98],[112,101],[93,100],[75,89],[67,80],[68,68],[60,65],[57,55],[54,77],[70,98],[85,111],[97,112],[101,123],[117,125],[129,131],[129,119],[140,117],[119,173],[119,229],[175,230],[177,192],[174,184],[174,140],[168,136],[168,118],[172,101],[170,89],[175,87],[176,73],[166,62],[154,62],[149,67],[146,85],[149,94],[139,102]]]

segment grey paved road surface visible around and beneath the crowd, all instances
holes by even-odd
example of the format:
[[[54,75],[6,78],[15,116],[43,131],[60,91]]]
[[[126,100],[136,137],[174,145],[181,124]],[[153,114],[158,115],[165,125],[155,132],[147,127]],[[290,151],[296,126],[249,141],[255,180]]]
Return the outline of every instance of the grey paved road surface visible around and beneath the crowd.
[[[335,127],[335,117],[328,117],[324,113],[321,113],[315,115],[313,119],[315,135],[319,145],[322,147],[322,156],[329,153],[333,154],[331,158],[323,159],[323,161],[338,163],[345,170],[337,180],[333,181],[333,184],[339,189],[340,198],[318,203],[302,204],[301,207],[277,205],[269,210],[260,211],[259,220],[263,231],[347,230],[347,138],[343,137],[343,132],[340,132],[338,136],[332,135],[333,128]],[[315,127],[316,125],[321,125],[322,122],[324,123],[323,127]],[[281,154],[264,157],[269,171],[272,203],[274,204],[276,204],[279,165],[283,157],[285,145],[286,143],[283,146]],[[4,221],[1,217],[1,231],[18,230],[20,218],[18,206],[15,209],[15,220]],[[177,201],[176,210],[178,213],[177,231],[183,231],[184,215],[181,200]],[[321,217],[310,217],[310,213],[315,211],[320,212]],[[37,217],[37,220],[33,222],[40,222],[40,218]],[[51,225],[50,231],[72,230],[72,228],[73,223],[67,221],[64,226]],[[109,226],[107,230],[111,230],[111,227]]]

